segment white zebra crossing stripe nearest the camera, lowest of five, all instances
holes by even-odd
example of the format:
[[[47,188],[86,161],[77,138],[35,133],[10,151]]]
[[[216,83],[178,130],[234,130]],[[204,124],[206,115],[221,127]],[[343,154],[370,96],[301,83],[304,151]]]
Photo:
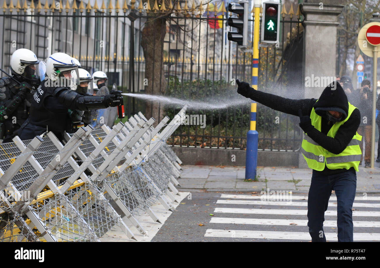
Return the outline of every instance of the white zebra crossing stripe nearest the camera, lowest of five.
[[[306,232],[277,232],[277,231],[250,231],[250,230],[218,230],[207,229],[206,237],[231,238],[258,238],[258,239],[293,239],[310,241],[310,234]],[[325,233],[326,240],[338,241],[337,233]],[[380,233],[354,233],[354,241],[380,241]]]

